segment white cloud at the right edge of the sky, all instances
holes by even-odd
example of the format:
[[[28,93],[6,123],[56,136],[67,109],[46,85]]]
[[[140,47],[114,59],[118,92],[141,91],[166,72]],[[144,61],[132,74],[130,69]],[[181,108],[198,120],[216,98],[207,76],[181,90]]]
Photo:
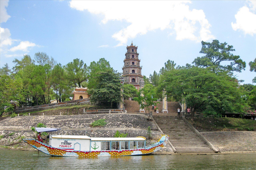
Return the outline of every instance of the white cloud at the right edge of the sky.
[[[255,5],[252,4],[252,7]],[[242,30],[245,34],[256,34],[256,14],[250,12],[246,6],[239,9],[235,15],[236,23],[231,23],[233,30]]]

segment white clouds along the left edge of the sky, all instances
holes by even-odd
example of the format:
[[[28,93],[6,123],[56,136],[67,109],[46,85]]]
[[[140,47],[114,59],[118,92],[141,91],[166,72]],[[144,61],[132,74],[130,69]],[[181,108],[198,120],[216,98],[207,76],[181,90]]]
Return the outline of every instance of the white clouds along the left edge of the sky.
[[[8,7],[7,0],[0,0],[0,23],[7,22],[11,17],[7,14],[6,8]],[[17,46],[10,47],[14,45],[14,42],[19,42]],[[23,56],[23,54],[8,54],[9,52],[15,51],[25,51],[28,52],[29,47],[37,46],[35,43],[28,41],[14,40],[11,38],[11,33],[8,28],[0,27],[0,51],[5,54],[5,57],[17,57]]]

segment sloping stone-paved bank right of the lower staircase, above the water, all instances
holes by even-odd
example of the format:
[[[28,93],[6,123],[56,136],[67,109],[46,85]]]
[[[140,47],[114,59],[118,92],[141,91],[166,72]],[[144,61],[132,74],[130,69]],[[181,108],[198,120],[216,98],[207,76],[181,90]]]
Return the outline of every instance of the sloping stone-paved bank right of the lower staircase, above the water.
[[[200,132],[220,152],[256,152],[255,131]]]

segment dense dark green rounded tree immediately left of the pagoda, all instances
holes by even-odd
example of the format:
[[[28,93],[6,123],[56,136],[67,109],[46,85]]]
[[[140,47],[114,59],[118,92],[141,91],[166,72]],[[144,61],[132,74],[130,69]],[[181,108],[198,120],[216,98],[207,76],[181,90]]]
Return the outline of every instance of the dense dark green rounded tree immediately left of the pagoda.
[[[122,101],[120,73],[113,69],[103,69],[96,77],[98,82],[94,88],[89,89],[91,102],[106,108],[116,108]]]

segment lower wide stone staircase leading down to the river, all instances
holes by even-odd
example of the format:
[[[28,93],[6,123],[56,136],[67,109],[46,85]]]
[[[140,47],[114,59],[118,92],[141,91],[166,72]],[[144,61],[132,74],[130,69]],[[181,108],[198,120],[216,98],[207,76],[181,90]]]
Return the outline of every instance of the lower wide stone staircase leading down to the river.
[[[194,133],[181,116],[153,116],[164,134],[178,153],[209,153],[214,152],[199,136]]]

